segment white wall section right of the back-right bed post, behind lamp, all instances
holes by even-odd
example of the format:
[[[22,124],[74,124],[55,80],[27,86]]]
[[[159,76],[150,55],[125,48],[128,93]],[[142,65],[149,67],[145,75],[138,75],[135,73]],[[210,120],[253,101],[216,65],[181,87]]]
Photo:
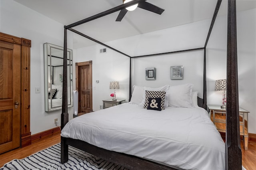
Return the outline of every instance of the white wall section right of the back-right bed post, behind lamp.
[[[214,82],[226,79],[226,30],[227,17],[217,17],[207,48],[208,104],[222,104]],[[237,41],[239,105],[250,111],[248,130],[256,133],[256,9],[237,12]]]

